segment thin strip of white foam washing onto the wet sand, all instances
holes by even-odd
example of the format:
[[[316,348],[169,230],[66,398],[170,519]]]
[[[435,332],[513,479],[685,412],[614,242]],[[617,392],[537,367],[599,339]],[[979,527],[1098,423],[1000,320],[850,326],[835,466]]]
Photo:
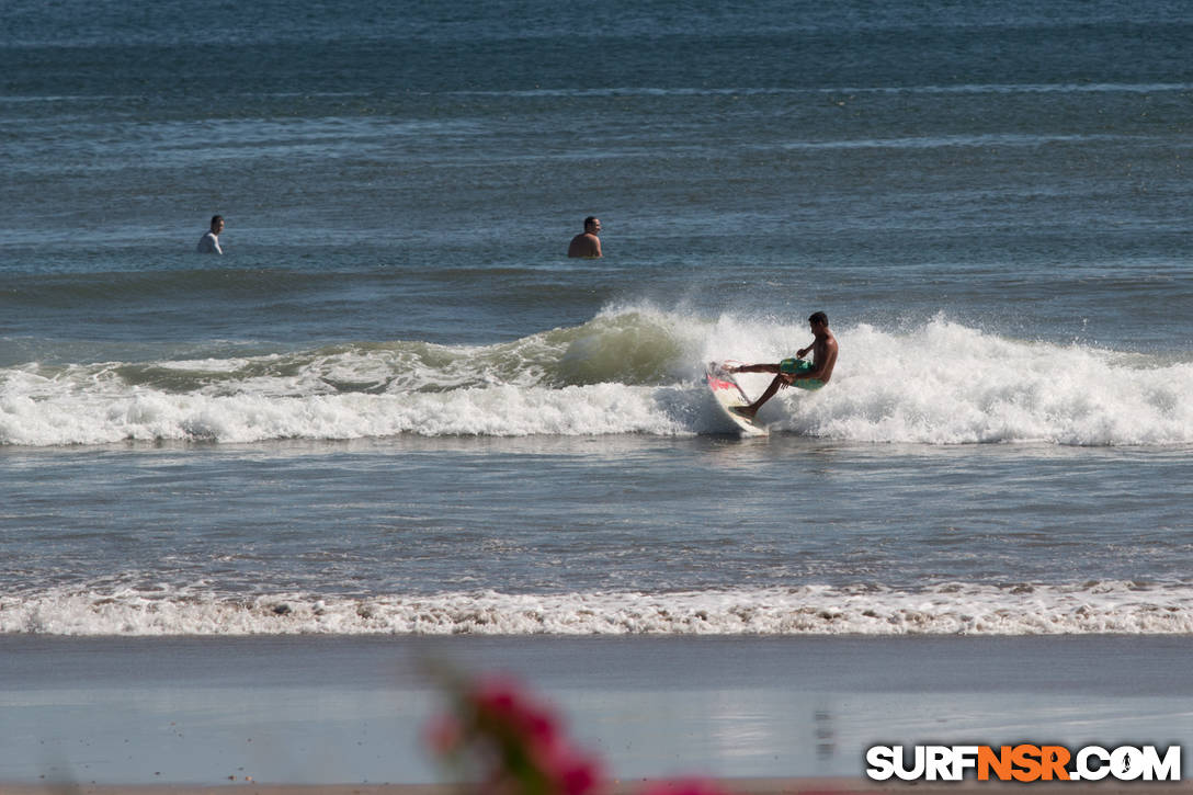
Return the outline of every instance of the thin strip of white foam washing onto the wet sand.
[[[1193,586],[941,584],[711,592],[217,597],[60,587],[0,597],[0,631],[47,635],[1189,634]]]

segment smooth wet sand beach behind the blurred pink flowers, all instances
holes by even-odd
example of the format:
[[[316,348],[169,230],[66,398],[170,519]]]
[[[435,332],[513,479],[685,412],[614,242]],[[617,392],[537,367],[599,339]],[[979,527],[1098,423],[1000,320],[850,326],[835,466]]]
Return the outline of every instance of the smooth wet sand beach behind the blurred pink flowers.
[[[855,788],[876,744],[1179,745],[1191,654],[1193,637],[1111,635],[0,636],[0,794],[432,785],[428,661],[517,677],[610,779]]]

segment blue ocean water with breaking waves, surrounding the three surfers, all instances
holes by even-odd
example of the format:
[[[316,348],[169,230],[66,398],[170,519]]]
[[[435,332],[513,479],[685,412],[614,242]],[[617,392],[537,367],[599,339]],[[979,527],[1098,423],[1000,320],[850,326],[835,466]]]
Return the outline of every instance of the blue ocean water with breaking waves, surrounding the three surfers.
[[[1193,10],[723,5],[5,2],[0,631],[1193,633]]]

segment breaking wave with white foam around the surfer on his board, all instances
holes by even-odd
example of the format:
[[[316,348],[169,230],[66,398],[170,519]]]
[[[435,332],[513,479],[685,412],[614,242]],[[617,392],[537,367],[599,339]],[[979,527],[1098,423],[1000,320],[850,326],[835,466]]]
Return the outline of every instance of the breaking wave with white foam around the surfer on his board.
[[[1193,444],[1191,362],[947,320],[837,337],[832,384],[780,392],[760,415],[773,431],[863,443]],[[625,307],[492,346],[29,364],[0,370],[0,444],[723,432],[700,384],[704,362],[773,362],[809,341],[802,323]],[[758,394],[767,376],[741,381]]]

